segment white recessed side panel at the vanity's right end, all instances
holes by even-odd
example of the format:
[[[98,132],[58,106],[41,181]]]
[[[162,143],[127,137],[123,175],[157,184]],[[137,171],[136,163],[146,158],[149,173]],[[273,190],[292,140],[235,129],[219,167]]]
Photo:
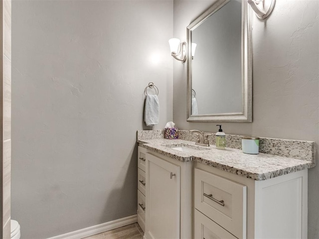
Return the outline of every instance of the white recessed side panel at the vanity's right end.
[[[256,181],[255,238],[307,238],[308,170]]]

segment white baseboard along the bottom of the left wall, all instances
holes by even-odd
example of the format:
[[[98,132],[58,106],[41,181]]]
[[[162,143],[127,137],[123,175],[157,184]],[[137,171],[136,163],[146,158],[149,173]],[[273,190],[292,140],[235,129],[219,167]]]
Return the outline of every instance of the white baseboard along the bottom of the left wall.
[[[75,232],[66,233],[66,234],[49,238],[49,239],[82,239],[82,238],[93,236],[95,234],[107,232],[113,229],[121,228],[133,223],[137,223],[137,221],[138,221],[137,215],[133,215],[130,217],[114,220],[108,223],[103,223],[103,224],[92,226],[89,228],[84,228]]]

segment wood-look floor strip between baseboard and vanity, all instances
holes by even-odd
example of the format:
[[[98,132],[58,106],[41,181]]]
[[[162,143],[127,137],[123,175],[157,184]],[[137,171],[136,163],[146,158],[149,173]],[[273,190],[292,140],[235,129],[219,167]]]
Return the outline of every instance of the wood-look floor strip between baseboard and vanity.
[[[85,239],[143,239],[143,231],[139,224],[131,224]]]

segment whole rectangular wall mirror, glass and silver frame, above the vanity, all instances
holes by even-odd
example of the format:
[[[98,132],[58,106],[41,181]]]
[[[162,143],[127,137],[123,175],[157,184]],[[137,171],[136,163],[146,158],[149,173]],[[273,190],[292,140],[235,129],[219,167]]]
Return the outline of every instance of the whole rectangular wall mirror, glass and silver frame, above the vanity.
[[[252,121],[251,54],[247,0],[217,0],[187,26],[187,121]]]

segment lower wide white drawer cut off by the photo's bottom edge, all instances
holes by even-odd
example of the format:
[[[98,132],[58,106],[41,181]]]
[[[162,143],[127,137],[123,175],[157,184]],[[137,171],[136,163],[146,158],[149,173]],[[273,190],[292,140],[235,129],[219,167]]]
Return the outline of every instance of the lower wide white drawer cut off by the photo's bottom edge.
[[[196,209],[194,216],[195,239],[237,239]]]

